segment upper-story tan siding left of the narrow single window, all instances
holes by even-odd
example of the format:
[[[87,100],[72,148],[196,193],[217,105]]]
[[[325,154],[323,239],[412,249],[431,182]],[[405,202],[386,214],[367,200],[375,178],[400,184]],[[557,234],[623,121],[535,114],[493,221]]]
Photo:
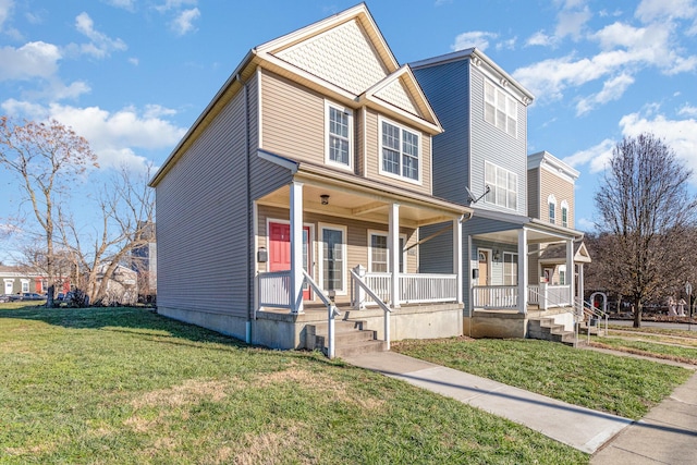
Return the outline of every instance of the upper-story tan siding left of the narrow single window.
[[[261,148],[323,163],[323,98],[266,71],[261,77]]]

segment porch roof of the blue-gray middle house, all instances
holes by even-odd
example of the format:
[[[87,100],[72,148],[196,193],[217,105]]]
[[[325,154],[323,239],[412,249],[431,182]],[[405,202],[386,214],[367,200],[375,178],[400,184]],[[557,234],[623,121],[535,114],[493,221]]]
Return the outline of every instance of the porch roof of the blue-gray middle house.
[[[584,233],[571,228],[551,224],[537,218],[501,211],[475,209],[475,218],[482,222],[491,220],[496,227],[491,231],[474,234],[474,237],[514,244],[518,240],[518,231],[527,230],[528,244],[543,244],[566,240],[582,240]]]

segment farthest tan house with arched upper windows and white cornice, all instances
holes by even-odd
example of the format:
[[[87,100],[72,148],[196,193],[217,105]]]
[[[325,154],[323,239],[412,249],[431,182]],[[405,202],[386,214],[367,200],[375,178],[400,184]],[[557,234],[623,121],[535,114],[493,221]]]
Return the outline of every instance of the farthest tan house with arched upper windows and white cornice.
[[[578,171],[547,151],[527,158],[528,211],[551,224],[574,229],[575,182]],[[537,252],[537,253],[534,253]],[[575,296],[584,296],[584,264],[590,256],[583,240],[574,241],[574,272],[566,268],[565,244],[540,244],[530,246],[528,267],[529,282],[546,282],[549,285],[565,285],[575,277]]]

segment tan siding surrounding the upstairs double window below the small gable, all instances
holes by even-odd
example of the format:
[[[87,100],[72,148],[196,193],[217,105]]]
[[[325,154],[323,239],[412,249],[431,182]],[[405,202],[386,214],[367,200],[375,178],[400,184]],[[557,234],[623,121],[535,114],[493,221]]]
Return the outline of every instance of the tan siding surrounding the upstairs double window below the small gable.
[[[378,113],[372,110],[367,111],[366,118],[366,146],[367,146],[367,157],[366,157],[366,178],[380,181],[384,183],[389,183],[391,185],[396,185],[403,188],[407,188],[409,191],[415,191],[424,194],[431,194],[431,144],[430,136],[426,133],[421,133],[420,131],[415,131],[420,135],[420,169],[421,169],[421,183],[415,184],[407,181],[400,181],[399,179],[392,176],[386,176],[380,174],[380,129],[379,129]],[[409,129],[408,124],[404,124],[401,121],[394,121],[388,119],[388,121],[393,121],[396,124],[403,125]]]

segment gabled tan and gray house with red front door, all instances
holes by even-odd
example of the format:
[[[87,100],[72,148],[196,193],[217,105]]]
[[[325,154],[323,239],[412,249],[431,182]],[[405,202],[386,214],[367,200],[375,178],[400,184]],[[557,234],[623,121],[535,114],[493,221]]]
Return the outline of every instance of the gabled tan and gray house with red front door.
[[[150,182],[158,313],[278,348],[311,347],[329,298],[388,341],[462,334],[441,131],[365,4],[254,48]],[[442,222],[450,267],[423,274]]]

